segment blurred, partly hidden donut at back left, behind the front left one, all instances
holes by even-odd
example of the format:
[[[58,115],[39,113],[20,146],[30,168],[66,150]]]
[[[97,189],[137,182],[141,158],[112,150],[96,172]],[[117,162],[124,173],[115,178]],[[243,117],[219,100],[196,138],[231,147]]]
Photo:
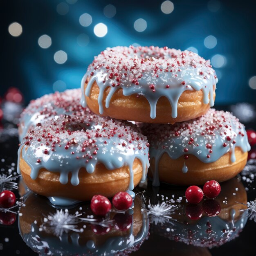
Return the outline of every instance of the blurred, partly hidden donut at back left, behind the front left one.
[[[30,101],[27,108],[20,115],[18,126],[20,141],[29,130],[36,127],[37,123],[53,119],[56,115],[76,115],[76,112],[83,111],[80,99],[81,90],[72,89],[65,90],[65,92],[45,94],[43,97]],[[90,112],[88,108],[85,111]]]

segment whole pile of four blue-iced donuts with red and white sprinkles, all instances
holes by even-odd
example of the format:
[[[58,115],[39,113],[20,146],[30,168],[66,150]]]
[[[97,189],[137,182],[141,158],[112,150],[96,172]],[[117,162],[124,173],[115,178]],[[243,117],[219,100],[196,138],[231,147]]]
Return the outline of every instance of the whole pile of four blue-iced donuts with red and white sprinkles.
[[[23,112],[18,166],[27,186],[67,204],[131,191],[149,163],[154,185],[234,177],[249,144],[236,117],[210,109],[217,82],[210,61],[190,51],[107,48],[81,90],[46,95]]]

